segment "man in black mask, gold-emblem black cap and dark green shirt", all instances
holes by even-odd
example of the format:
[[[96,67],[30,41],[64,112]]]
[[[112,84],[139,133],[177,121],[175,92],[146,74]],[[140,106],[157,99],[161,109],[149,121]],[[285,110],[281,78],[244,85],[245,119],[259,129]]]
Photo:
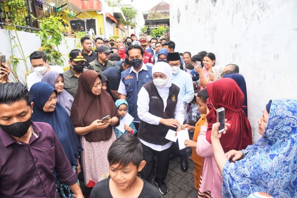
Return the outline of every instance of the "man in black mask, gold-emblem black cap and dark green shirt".
[[[85,53],[80,50],[71,50],[69,54],[69,64],[70,68],[63,72],[64,75],[64,89],[70,93],[73,98],[77,92],[78,88],[78,78],[79,76],[87,71],[88,69],[84,68],[85,62]]]

